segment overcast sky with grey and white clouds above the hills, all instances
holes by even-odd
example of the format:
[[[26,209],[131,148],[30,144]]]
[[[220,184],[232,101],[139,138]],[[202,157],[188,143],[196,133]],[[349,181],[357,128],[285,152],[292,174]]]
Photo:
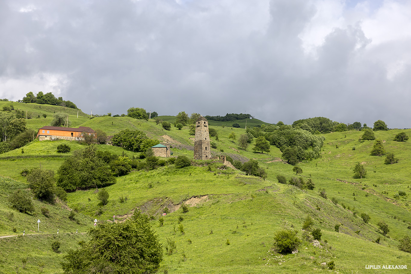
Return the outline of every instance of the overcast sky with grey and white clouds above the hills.
[[[0,97],[410,128],[411,0],[0,0]]]

